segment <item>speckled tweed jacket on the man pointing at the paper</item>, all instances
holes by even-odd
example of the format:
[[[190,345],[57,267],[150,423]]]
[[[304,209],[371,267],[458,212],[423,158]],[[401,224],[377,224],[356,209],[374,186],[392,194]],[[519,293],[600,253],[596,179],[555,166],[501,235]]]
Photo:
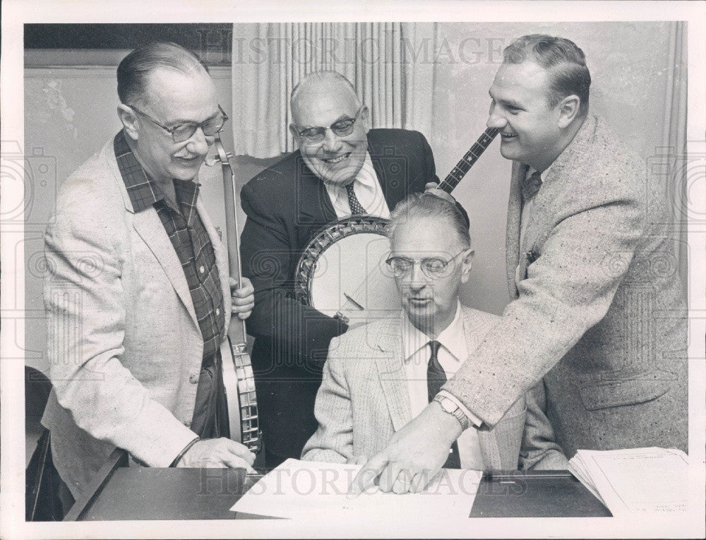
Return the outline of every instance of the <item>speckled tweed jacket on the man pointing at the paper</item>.
[[[519,246],[527,167],[513,165],[514,301],[445,385],[487,424],[546,375],[547,414],[566,455],[687,450],[683,289],[664,179],[647,172],[589,116],[552,164]]]

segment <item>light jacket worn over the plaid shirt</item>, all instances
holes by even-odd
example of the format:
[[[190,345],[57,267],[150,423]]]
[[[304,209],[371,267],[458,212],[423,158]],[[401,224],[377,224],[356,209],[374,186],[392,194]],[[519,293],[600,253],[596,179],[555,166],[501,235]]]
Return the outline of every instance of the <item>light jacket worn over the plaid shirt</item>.
[[[201,198],[197,210],[215,251],[227,327],[227,251]],[[188,426],[203,338],[172,242],[154,208],[133,212],[112,140],[61,186],[44,249],[54,390],[42,423],[56,469],[78,497],[116,446],[167,467],[196,436]]]

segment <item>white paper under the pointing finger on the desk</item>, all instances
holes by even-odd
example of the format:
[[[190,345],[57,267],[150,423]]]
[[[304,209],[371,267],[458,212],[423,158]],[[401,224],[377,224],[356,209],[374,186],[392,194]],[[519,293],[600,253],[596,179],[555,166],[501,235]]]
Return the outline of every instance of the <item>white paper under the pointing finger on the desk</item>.
[[[349,499],[348,486],[360,469],[360,465],[287,460],[263,476],[231,510],[309,520],[465,519],[482,476],[479,471],[443,469],[421,493],[396,495],[375,487]]]

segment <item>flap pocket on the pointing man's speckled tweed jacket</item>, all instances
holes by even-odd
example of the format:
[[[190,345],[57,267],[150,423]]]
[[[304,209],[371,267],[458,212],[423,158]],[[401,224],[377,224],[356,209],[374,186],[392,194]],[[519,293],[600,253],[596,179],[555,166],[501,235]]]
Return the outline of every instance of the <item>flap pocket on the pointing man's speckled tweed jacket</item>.
[[[650,371],[641,378],[610,380],[579,388],[584,407],[589,411],[656,400],[671,388],[674,375]]]

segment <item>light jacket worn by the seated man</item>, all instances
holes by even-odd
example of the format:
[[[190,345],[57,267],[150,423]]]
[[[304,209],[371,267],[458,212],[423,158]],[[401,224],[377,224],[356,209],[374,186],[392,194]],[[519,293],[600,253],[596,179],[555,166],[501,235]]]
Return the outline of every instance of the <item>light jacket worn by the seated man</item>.
[[[462,307],[469,351],[475,349],[498,318]],[[402,352],[400,318],[378,320],[334,338],[316,395],[316,433],[302,459],[345,462],[371,457],[412,420]],[[479,431],[487,469],[566,469],[566,457],[554,443],[542,412],[544,391],[537,385],[520,397],[490,431]]]

